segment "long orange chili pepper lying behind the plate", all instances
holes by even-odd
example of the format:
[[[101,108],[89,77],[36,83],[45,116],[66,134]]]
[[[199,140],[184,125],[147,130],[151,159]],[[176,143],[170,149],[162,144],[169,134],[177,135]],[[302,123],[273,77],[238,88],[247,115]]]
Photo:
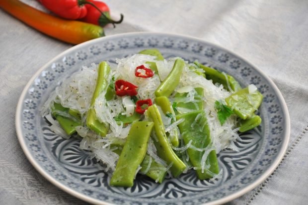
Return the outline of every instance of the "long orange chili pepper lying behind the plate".
[[[104,36],[104,29],[90,23],[64,20],[19,0],[0,0],[0,7],[29,26],[59,40],[79,44]]]

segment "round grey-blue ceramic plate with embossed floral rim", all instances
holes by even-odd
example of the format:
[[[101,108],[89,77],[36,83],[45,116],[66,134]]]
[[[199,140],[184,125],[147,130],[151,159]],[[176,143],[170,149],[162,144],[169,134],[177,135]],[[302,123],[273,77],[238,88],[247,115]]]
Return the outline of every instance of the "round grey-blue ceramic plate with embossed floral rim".
[[[257,86],[264,100],[259,109],[262,124],[241,134],[239,152],[218,155],[223,178],[200,181],[193,171],[156,184],[138,176],[132,188],[110,187],[110,176],[79,149],[79,140],[54,134],[39,110],[64,79],[91,63],[115,62],[147,48],[158,48],[165,58],[183,59],[214,67],[232,75],[242,87]],[[232,52],[197,38],[163,33],[128,33],[77,45],[42,67],[26,85],[17,105],[19,142],[32,165],[50,182],[93,204],[194,205],[226,203],[264,181],[281,161],[290,136],[290,119],[284,99],[260,70]]]

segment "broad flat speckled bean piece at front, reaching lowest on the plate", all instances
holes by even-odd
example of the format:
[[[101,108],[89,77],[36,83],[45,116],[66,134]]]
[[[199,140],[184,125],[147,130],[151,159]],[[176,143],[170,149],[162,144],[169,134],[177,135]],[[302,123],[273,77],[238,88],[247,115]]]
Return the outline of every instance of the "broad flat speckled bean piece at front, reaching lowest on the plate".
[[[136,121],[132,124],[115,171],[111,177],[111,186],[132,187],[137,168],[147,153],[148,141],[153,122]]]

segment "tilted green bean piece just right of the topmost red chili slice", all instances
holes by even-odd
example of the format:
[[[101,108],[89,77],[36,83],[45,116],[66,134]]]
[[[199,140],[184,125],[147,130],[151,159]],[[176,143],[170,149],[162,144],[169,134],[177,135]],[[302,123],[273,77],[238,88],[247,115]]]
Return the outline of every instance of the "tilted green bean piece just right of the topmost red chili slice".
[[[182,59],[176,59],[173,68],[166,79],[158,86],[155,96],[169,97],[180,82],[185,62]]]

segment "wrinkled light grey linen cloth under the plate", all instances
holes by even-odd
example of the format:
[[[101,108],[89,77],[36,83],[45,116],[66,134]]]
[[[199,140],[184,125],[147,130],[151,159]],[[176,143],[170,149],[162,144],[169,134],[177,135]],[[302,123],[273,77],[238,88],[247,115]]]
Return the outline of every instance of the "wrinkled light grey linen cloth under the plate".
[[[36,0],[24,2],[42,9]],[[157,31],[198,37],[231,50],[267,74],[291,118],[283,161],[260,186],[230,205],[302,205],[308,193],[307,0],[105,0],[122,24],[106,35]],[[0,9],[0,205],[86,204],[30,164],[18,143],[15,109],[32,75],[72,45],[50,38]]]

